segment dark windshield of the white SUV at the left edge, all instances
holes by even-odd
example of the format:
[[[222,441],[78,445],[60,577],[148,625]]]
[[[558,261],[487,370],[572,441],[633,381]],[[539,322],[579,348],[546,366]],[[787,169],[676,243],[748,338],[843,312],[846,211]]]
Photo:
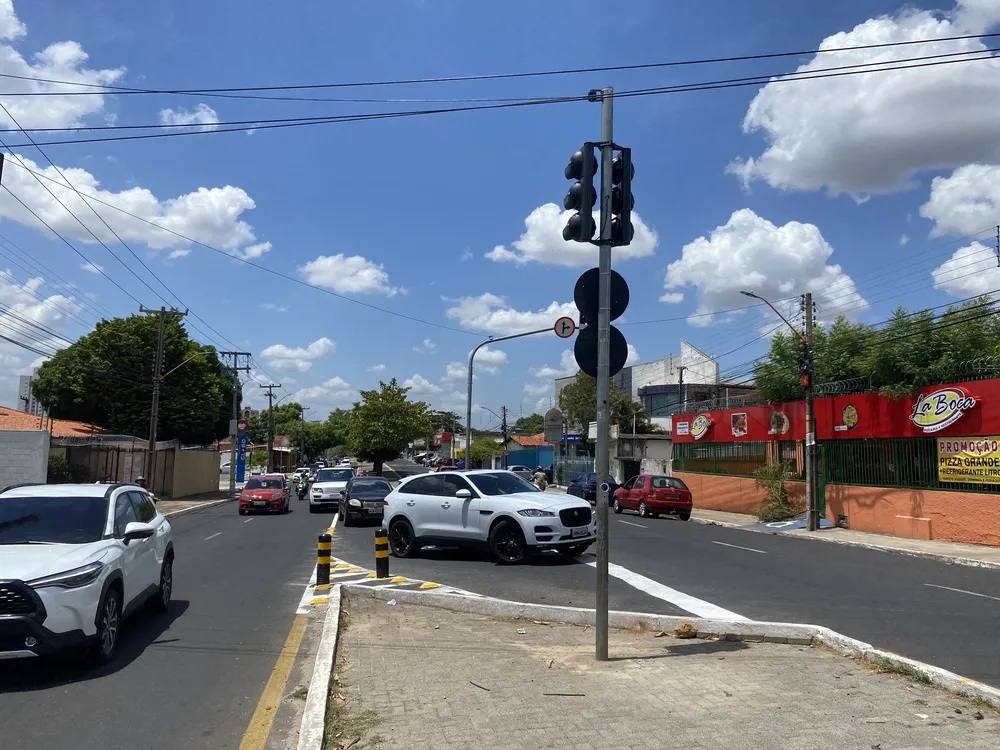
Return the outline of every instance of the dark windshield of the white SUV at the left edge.
[[[108,500],[0,497],[0,544],[88,544],[104,536]]]

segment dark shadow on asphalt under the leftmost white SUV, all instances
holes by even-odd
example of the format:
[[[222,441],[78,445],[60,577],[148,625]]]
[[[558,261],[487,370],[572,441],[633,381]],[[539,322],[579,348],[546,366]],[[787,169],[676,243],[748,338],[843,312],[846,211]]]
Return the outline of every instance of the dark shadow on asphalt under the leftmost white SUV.
[[[170,626],[188,609],[188,602],[174,600],[162,614],[137,612],[128,618],[121,631],[118,653],[108,664],[88,667],[76,654],[66,653],[42,659],[17,659],[4,662],[0,670],[0,692],[27,693],[59,685],[100,679],[132,664],[147,648],[156,644]]]

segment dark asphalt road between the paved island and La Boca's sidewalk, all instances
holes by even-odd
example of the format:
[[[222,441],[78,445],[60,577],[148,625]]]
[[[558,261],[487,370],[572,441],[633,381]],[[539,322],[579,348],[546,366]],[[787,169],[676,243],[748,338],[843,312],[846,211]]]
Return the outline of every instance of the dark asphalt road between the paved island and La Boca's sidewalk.
[[[373,567],[374,528],[341,525],[334,555]],[[755,620],[825,625],[1000,686],[1000,572],[628,513],[611,515],[610,544],[611,562],[625,569],[610,579],[613,609],[699,614],[708,604]],[[431,549],[390,566],[394,575],[487,596],[592,607],[593,559],[547,553],[509,567],[485,553]]]

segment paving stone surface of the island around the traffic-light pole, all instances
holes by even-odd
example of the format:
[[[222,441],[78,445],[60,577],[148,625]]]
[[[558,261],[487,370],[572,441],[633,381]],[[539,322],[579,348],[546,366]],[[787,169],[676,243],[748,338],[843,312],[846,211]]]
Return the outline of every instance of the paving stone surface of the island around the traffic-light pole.
[[[1000,747],[988,707],[819,648],[614,631],[596,662],[593,644],[592,628],[348,596],[326,747]]]

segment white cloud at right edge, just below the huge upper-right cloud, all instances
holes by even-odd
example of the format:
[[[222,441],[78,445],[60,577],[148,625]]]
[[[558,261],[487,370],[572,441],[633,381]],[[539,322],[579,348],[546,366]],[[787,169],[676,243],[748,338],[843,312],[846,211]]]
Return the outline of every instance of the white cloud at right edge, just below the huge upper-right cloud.
[[[978,234],[1000,215],[1000,167],[967,164],[950,177],[935,177],[920,215],[934,222],[931,234]]]

